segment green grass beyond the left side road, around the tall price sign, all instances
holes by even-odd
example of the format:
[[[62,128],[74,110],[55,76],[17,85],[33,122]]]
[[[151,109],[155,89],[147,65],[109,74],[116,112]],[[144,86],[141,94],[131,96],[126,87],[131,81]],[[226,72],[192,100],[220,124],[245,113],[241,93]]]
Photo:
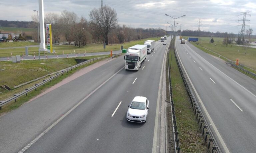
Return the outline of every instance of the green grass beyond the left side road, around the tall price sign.
[[[104,51],[110,51],[111,49],[113,51],[115,50],[120,50],[121,46],[124,46],[124,49],[137,45],[137,44],[144,44],[145,40],[159,40],[160,37],[154,37],[154,38],[147,38],[147,39],[142,39],[138,41],[131,41],[129,43],[123,43],[123,44],[113,44],[113,45],[107,45],[106,49],[104,50],[102,44],[87,44],[86,46],[82,46],[80,48],[73,46],[73,45],[53,45],[53,50],[55,50],[56,54],[75,54],[75,53],[91,53],[91,52],[104,52]],[[9,43],[0,43],[0,48],[5,48],[6,44],[11,44],[12,42]],[[13,42],[13,44],[9,45],[9,47],[17,47],[17,46],[22,46],[23,42]],[[5,46],[2,46],[5,45]],[[24,44],[24,46],[28,45],[37,45],[37,43],[28,43],[27,45]],[[29,47],[29,55],[38,55],[38,47]],[[25,47],[24,48],[15,48],[15,49],[0,49],[0,57],[10,57],[11,53],[13,56],[20,55],[23,56],[23,53],[25,53]],[[44,52],[40,52],[41,55],[44,55]],[[46,53],[46,55],[51,55]]]

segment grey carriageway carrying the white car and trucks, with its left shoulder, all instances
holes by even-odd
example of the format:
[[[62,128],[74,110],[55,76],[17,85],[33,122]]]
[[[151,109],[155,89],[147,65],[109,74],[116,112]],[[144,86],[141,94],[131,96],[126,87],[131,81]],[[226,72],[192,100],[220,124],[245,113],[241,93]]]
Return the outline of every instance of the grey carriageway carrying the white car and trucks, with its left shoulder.
[[[121,56],[0,117],[0,152],[158,152],[166,47],[156,42],[138,72]],[[130,123],[127,105],[140,95],[149,99],[147,121]]]

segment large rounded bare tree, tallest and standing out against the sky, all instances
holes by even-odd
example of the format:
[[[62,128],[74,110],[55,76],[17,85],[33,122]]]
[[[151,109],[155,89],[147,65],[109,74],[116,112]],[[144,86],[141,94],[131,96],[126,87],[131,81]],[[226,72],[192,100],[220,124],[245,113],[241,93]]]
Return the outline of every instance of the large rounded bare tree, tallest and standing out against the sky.
[[[108,33],[117,27],[117,13],[111,7],[104,5],[102,8],[90,11],[89,17],[93,23],[94,30],[99,31],[108,45]]]

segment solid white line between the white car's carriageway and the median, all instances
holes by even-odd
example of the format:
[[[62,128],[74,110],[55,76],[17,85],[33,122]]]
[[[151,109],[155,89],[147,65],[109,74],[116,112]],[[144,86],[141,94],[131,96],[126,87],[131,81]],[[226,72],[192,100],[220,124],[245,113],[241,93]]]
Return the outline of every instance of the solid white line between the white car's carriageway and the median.
[[[165,50],[164,58],[163,58],[163,63],[162,63],[162,69],[161,69],[161,75],[160,75],[160,80],[159,80],[159,86],[158,86],[158,96],[157,96],[157,104],[156,104],[156,117],[155,117],[155,127],[154,127],[154,136],[153,136],[153,146],[152,146],[152,153],[156,153],[156,143],[157,143],[157,131],[158,131],[158,111],[159,111],[159,103],[160,103],[160,92],[162,88],[162,77],[163,77],[163,69],[164,69],[164,64],[165,64],[165,59],[167,56],[167,50],[168,47]]]

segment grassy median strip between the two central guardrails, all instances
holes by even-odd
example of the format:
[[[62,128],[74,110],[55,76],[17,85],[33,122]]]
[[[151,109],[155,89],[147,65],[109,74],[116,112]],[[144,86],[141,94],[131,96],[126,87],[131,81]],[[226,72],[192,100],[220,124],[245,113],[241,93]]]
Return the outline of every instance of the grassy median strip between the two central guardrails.
[[[171,45],[174,45],[174,41],[172,41]],[[171,52],[173,53],[171,54]],[[174,56],[174,49],[171,49],[169,58],[170,62],[172,62],[169,63],[171,65],[172,100],[174,101],[181,152],[207,153],[209,150],[191,109],[187,91]],[[171,108],[168,107],[167,111],[170,113]],[[171,119],[168,122],[171,122]]]

